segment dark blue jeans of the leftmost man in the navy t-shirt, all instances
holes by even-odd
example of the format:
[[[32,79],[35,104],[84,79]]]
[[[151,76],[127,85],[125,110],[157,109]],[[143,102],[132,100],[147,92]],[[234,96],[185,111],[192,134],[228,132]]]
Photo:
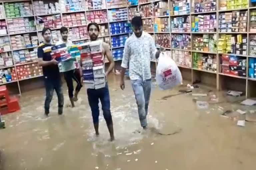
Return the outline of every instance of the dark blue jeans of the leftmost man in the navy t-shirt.
[[[58,97],[58,107],[63,108],[64,103],[64,97],[62,92],[62,85],[61,85],[61,79],[49,79],[44,78],[45,82],[45,91],[46,91],[46,98],[44,102],[44,108],[45,110],[50,109],[50,103],[52,101],[53,91],[56,91],[57,97]]]

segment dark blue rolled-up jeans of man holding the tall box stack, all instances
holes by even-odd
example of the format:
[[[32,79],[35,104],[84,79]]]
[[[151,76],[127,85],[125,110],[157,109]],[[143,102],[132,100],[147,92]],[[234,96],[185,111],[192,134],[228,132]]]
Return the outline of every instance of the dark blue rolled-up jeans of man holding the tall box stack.
[[[99,123],[99,100],[102,105],[102,111],[104,119],[106,120],[107,125],[111,125],[112,123],[112,116],[110,112],[110,97],[109,97],[109,90],[108,90],[108,84],[106,84],[105,87],[100,89],[87,89],[87,96],[89,105],[91,107],[92,111],[92,118],[93,123],[97,124]]]

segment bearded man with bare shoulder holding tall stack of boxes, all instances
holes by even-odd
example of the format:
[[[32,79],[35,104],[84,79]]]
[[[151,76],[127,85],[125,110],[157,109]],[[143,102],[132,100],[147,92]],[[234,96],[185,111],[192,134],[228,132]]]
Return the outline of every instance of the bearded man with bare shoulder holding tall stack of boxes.
[[[99,31],[100,29],[98,24],[96,23],[88,24],[87,32],[90,36],[91,41],[97,41]],[[112,54],[109,48],[109,44],[102,42],[102,53],[104,56],[108,58],[108,61],[110,62],[108,70],[105,72],[105,77],[107,80],[108,74],[111,72],[111,70],[114,68],[114,65],[115,65],[115,62],[112,58]],[[104,65],[104,60],[105,59],[103,59],[103,65]],[[114,138],[112,116],[110,112],[110,96],[109,96],[108,84],[106,83],[106,86],[100,89],[88,88],[87,96],[88,96],[89,105],[92,111],[92,118],[93,118],[93,124],[94,124],[96,135],[99,135],[99,114],[100,114],[99,100],[100,100],[102,105],[103,116],[107,123],[108,131],[110,133],[110,141],[113,141],[115,138]]]

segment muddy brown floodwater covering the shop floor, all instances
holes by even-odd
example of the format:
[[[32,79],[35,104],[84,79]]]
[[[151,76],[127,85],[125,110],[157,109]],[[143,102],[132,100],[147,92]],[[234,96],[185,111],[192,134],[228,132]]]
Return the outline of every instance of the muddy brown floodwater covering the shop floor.
[[[64,89],[66,105],[66,85]],[[55,95],[49,117],[44,116],[44,89],[23,93],[21,111],[2,116],[6,128],[0,129],[0,170],[255,169],[256,124],[238,127],[236,120],[220,116],[225,109],[249,108],[222,101],[199,109],[191,93],[175,95],[180,89],[160,91],[154,85],[145,131],[130,82],[122,91],[117,78],[112,78],[114,142],[108,141],[102,113],[100,136],[94,135],[86,89],[81,90],[76,107],[65,107],[61,116]],[[218,100],[225,98],[216,95]],[[164,96],[168,98],[162,100]]]

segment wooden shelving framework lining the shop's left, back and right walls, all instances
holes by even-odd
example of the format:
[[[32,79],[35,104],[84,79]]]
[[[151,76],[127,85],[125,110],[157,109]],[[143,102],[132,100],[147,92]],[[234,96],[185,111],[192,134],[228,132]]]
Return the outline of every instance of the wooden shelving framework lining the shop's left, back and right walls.
[[[34,0],[28,0],[27,2],[33,3],[33,1]],[[86,0],[84,0],[84,1],[86,1]],[[64,14],[79,13],[79,12],[80,13],[85,13],[86,23],[88,24],[89,21],[87,21],[86,14],[89,11],[102,11],[102,10],[108,11],[108,10],[111,10],[111,9],[126,8],[127,12],[128,12],[127,20],[121,20],[121,21],[109,21],[108,20],[108,22],[98,23],[100,25],[105,25],[109,29],[111,23],[122,22],[122,21],[123,22],[129,22],[131,20],[131,17],[129,18],[129,8],[136,8],[137,7],[138,13],[141,14],[143,11],[140,11],[140,6],[151,4],[152,16],[150,16],[150,17],[143,17],[142,19],[143,20],[151,19],[152,23],[154,24],[155,20],[157,18],[162,18],[162,19],[168,18],[169,19],[169,23],[168,23],[169,31],[165,31],[165,32],[159,32],[158,31],[157,32],[156,30],[153,30],[153,31],[150,31],[148,33],[151,34],[154,38],[158,34],[161,34],[161,35],[162,34],[169,34],[170,46],[166,47],[167,50],[172,51],[172,53],[174,51],[184,51],[184,52],[189,52],[191,54],[191,67],[182,66],[182,65],[179,66],[184,79],[188,79],[189,81],[191,81],[191,83],[195,82],[196,80],[199,80],[199,81],[201,81],[202,84],[207,84],[209,86],[215,87],[217,90],[225,90],[225,89],[240,90],[240,91],[245,92],[246,97],[254,97],[254,96],[256,97],[256,93],[254,92],[255,90],[253,88],[256,85],[256,78],[249,78],[249,76],[248,76],[248,68],[249,68],[248,59],[249,59],[249,57],[256,58],[256,56],[251,56],[249,54],[250,35],[251,34],[255,34],[256,35],[256,32],[251,32],[250,31],[250,17],[251,17],[250,16],[250,12],[252,10],[256,9],[255,4],[250,3],[250,1],[248,0],[248,7],[247,8],[220,10],[220,0],[217,0],[216,1],[216,10],[205,11],[205,12],[196,12],[195,13],[191,9],[191,3],[194,2],[194,1],[190,0],[189,1],[189,5],[190,5],[189,13],[173,15],[170,12],[170,9],[173,8],[171,6],[171,3],[170,3],[170,1],[172,1],[172,0],[156,0],[156,1],[150,1],[149,0],[149,2],[143,2],[143,3],[140,3],[141,2],[140,0],[138,0],[138,1],[139,1],[138,5],[128,5],[128,0],[126,0],[126,6],[124,6],[124,7],[108,7],[107,1],[105,1],[105,4],[104,4],[105,6],[103,5],[101,9],[87,9],[87,7],[85,7],[84,10],[82,10],[82,11],[80,10],[80,11],[61,12],[61,13],[57,13],[57,14],[60,14],[61,15],[61,19],[62,19]],[[154,12],[153,12],[154,11],[154,9],[153,9],[154,8],[154,4],[159,2],[159,1],[166,1],[166,2],[168,2],[168,9],[169,9],[169,11],[167,12],[166,15],[154,16]],[[24,2],[24,1],[18,0],[18,1],[11,1],[11,2]],[[58,2],[58,0],[57,0],[57,2]],[[0,2],[0,4],[2,4],[2,5],[4,3],[6,3],[6,1]],[[219,15],[221,13],[232,12],[232,11],[237,11],[237,10],[239,10],[239,11],[241,11],[241,10],[242,11],[247,11],[248,15],[247,15],[247,30],[246,30],[246,32],[229,32],[229,33],[221,33],[221,32],[219,32]],[[171,10],[171,11],[173,11],[173,10]],[[192,16],[209,15],[209,14],[216,14],[217,25],[216,25],[216,31],[215,32],[192,32],[191,29],[190,29],[190,31],[187,31],[187,32],[174,32],[174,31],[171,30],[171,21],[175,17],[189,17],[190,18],[190,26],[192,26],[192,22],[191,22],[191,17]],[[32,16],[27,16],[27,17],[34,17],[34,19],[36,20],[36,16],[50,16],[50,15],[55,15],[55,14],[32,15]],[[108,13],[107,13],[107,15],[108,15]],[[107,16],[107,18],[108,18],[108,16]],[[5,20],[5,19],[1,19],[1,20]],[[62,20],[62,25],[63,25],[63,20]],[[86,25],[83,25],[83,26],[86,26]],[[81,26],[71,26],[71,27],[68,27],[68,28],[73,28],[73,27],[81,27]],[[154,25],[153,25],[153,28],[154,28]],[[56,29],[53,29],[53,30],[58,30],[58,29],[59,28],[56,28]],[[7,25],[7,30],[8,30],[8,25]],[[37,34],[37,36],[38,36],[38,34],[40,34],[40,30],[33,31],[31,33]],[[22,34],[28,34],[28,33],[22,33]],[[113,36],[126,35],[126,34],[131,35],[130,33],[121,33],[121,34],[116,34],[116,35],[110,35],[110,30],[109,30],[109,35],[99,36],[99,38],[107,37],[107,38],[109,38],[111,40],[111,37],[113,37]],[[172,35],[177,35],[177,34],[186,34],[186,35],[190,36],[191,49],[172,48],[171,36]],[[216,52],[194,50],[193,49],[193,44],[192,44],[194,37],[197,36],[197,35],[201,35],[202,36],[203,34],[209,34],[209,35],[215,34],[216,35],[216,37],[217,37],[217,40],[216,40],[217,49],[218,49],[218,39],[219,39],[220,35],[222,35],[222,34],[232,34],[232,35],[243,34],[243,35],[247,35],[247,55],[218,53],[217,49],[216,49]],[[9,39],[10,39],[10,36],[12,36],[12,35],[16,35],[16,34],[11,34],[11,35],[7,34],[5,36],[9,37]],[[3,37],[3,35],[0,35],[0,37]],[[81,39],[81,40],[74,40],[73,42],[87,41],[87,40],[89,40],[89,39],[88,38],[84,38],[84,39]],[[118,48],[123,48],[123,47],[124,46],[112,47],[112,45],[110,43],[111,52],[113,51],[113,49],[118,49]],[[28,47],[28,48],[22,48],[22,49],[30,49],[30,48],[37,48],[37,46]],[[19,50],[22,50],[22,49],[19,49]],[[14,50],[14,49],[11,48],[11,50],[6,51],[6,52],[12,52],[12,56],[13,56],[13,51],[17,51],[17,50],[16,49]],[[215,54],[216,55],[216,59],[217,59],[217,71],[214,72],[214,71],[209,71],[209,70],[202,70],[202,69],[198,69],[198,68],[193,68],[193,53]],[[237,56],[245,57],[247,59],[247,65],[246,65],[246,70],[247,70],[246,71],[246,75],[247,76],[246,77],[241,77],[241,76],[235,76],[235,75],[221,73],[221,63],[220,63],[221,54],[224,54],[224,55],[237,55]],[[121,59],[117,59],[115,61],[118,61],[118,60],[121,60]],[[34,62],[36,63],[36,61],[34,61]],[[152,62],[156,62],[156,61],[152,61]],[[18,66],[18,65],[19,64],[14,64],[13,66],[10,66],[10,67],[15,67],[15,70],[16,70],[16,66]],[[2,68],[8,68],[8,67],[2,67]],[[21,80],[12,81],[12,82],[17,82],[17,85],[18,85],[18,88],[19,88],[19,92],[21,94],[19,81],[21,81]],[[8,82],[8,83],[12,83],[12,82]]]

